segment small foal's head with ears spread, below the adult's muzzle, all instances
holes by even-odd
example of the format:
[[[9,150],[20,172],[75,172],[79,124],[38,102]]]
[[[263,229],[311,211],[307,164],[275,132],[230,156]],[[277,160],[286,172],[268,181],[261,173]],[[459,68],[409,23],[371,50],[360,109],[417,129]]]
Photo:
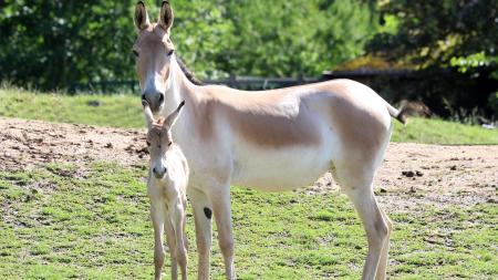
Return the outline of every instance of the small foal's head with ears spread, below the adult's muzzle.
[[[166,118],[159,118],[157,121],[154,120],[148,103],[143,101],[142,104],[144,105],[144,114],[148,125],[147,146],[151,154],[151,172],[156,178],[160,179],[167,174],[168,166],[166,156],[173,145],[172,127],[178,118],[185,101]]]

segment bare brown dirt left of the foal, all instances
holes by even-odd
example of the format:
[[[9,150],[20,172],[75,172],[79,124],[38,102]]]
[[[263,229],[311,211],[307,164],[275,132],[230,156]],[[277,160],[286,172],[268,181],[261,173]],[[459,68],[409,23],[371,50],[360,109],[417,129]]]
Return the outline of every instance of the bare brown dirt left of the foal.
[[[0,170],[53,162],[116,160],[134,165],[146,158],[145,129],[0,118]]]

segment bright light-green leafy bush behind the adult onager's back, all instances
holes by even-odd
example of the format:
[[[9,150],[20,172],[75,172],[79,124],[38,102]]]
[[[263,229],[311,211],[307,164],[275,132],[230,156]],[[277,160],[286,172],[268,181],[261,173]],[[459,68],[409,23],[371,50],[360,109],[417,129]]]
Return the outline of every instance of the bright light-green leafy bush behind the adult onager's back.
[[[363,53],[376,31],[362,1],[228,1],[236,45],[228,51],[237,74],[320,74]]]

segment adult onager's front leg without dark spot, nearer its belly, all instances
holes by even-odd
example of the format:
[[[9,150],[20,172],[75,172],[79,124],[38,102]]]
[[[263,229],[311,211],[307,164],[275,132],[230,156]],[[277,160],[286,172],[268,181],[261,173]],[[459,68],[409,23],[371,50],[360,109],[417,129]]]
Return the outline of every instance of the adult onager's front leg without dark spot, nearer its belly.
[[[225,260],[225,273],[228,280],[236,279],[234,265],[234,234],[231,226],[230,187],[220,186],[211,195],[218,228],[218,242]]]

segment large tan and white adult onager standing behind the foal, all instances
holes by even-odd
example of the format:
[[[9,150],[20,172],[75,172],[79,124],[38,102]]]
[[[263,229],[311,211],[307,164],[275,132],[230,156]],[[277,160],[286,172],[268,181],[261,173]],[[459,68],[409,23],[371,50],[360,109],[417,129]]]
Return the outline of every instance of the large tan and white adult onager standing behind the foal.
[[[199,279],[209,278],[211,214],[227,279],[235,279],[230,185],[260,190],[309,186],[331,172],[351,198],[367,235],[363,279],[385,279],[391,221],[377,206],[372,182],[383,160],[398,111],[367,86],[336,80],[289,89],[243,92],[194,83],[169,39],[173,10],[163,1],[151,23],[143,2],[135,10],[133,46],[143,100],[154,113],[186,101],[173,136],[191,170]],[[255,58],[257,59],[257,58]]]

